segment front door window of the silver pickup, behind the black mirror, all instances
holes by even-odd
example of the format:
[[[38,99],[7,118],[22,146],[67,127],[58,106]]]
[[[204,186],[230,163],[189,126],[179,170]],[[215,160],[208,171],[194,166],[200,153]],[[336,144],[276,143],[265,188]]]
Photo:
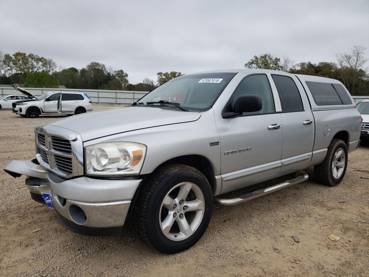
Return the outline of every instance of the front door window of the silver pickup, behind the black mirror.
[[[270,88],[266,75],[258,74],[247,76],[238,84],[232,97],[233,100],[236,101],[240,96],[250,94],[257,95],[261,98],[262,108],[259,112],[243,113],[244,115],[275,112],[272,89]]]

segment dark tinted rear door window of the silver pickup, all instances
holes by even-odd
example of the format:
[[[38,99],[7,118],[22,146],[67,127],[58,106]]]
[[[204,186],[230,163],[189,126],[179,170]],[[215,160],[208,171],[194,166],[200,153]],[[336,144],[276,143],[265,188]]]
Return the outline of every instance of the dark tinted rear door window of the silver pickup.
[[[296,83],[289,76],[272,74],[278,90],[282,112],[301,112],[304,110],[301,95]]]

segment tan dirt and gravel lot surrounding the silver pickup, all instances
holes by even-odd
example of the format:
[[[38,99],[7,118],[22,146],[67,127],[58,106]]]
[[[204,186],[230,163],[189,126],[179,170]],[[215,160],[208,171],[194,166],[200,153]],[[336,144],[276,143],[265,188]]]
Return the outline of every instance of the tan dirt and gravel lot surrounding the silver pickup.
[[[60,118],[1,110],[0,168],[33,158],[33,128]],[[307,182],[282,191],[215,206],[195,246],[163,255],[139,239],[131,220],[114,237],[70,232],[30,199],[24,177],[0,170],[0,276],[369,276],[369,143],[349,154],[338,187],[317,184],[311,168],[307,173]]]

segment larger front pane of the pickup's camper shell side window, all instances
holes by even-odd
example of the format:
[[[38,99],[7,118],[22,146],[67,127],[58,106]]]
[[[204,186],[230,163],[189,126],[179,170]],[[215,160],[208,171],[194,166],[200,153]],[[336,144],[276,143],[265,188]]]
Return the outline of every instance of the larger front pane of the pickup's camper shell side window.
[[[306,81],[306,85],[308,86],[311,95],[313,95],[315,104],[318,106],[342,105],[341,98],[339,98],[331,83]]]

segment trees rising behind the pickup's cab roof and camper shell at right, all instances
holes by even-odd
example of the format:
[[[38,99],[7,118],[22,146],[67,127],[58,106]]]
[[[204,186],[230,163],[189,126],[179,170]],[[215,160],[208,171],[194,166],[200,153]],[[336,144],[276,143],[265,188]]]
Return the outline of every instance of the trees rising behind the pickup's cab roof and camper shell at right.
[[[288,56],[282,59],[271,54],[254,56],[245,63],[246,68],[263,68],[293,74],[314,75],[341,81],[351,95],[369,95],[369,74],[365,58],[366,47],[355,45],[349,53],[336,54],[335,62],[295,63]]]

